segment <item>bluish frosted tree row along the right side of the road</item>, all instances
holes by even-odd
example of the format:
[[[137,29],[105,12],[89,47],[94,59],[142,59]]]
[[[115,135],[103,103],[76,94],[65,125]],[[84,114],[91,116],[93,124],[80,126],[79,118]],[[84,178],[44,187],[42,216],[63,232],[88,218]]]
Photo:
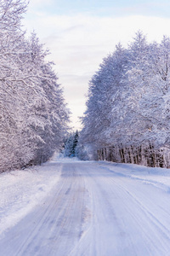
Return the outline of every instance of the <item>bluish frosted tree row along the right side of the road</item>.
[[[80,141],[97,158],[170,166],[170,38],[116,46],[89,83]]]

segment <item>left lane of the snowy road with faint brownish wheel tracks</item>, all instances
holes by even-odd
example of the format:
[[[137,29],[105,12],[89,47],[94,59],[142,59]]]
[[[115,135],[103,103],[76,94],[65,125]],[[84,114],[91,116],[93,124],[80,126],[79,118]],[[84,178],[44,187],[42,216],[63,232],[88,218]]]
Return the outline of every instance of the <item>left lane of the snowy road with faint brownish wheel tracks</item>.
[[[68,255],[82,236],[87,193],[79,168],[71,165],[68,171],[68,165],[64,165],[59,184],[48,201],[9,230],[8,241],[0,241],[2,255]]]

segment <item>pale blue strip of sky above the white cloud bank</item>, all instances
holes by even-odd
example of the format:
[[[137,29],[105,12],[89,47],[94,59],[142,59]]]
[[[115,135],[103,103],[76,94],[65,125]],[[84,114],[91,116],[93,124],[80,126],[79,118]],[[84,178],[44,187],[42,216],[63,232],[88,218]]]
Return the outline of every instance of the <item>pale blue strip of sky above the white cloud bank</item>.
[[[161,15],[169,16],[170,3],[168,0],[31,0],[30,9],[44,9],[55,15],[87,15],[122,17],[127,15]]]

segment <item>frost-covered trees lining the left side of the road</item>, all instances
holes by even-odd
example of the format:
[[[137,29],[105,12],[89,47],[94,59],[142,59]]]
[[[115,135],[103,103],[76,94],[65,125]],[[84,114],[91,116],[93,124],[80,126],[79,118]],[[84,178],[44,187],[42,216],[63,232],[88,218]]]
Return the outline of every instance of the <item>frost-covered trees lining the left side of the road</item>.
[[[24,0],[0,1],[0,172],[41,164],[60,148],[68,110],[37,35],[25,37]]]

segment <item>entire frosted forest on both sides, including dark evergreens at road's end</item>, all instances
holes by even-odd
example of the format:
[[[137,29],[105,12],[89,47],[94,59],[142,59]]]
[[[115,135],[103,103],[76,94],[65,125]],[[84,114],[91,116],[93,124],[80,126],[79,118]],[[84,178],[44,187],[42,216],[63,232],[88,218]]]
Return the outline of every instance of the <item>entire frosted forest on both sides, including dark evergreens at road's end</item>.
[[[170,38],[148,43],[139,31],[127,48],[116,45],[89,82],[82,131],[68,135],[49,51],[21,26],[26,8],[0,1],[0,172],[39,165],[63,147],[81,160],[170,167]]]

